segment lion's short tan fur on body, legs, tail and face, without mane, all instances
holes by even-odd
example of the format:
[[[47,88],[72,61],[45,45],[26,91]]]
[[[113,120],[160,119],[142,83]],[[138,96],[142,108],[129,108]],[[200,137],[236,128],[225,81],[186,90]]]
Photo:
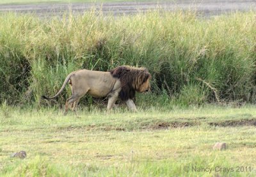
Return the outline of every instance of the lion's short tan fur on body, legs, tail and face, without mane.
[[[119,70],[120,72],[122,72],[122,69],[125,69],[127,66],[125,68],[123,67],[124,66],[116,67],[115,69],[120,68]],[[125,77],[129,78],[129,74],[131,73],[126,73]],[[132,85],[131,87],[135,86],[136,91],[138,92],[145,92],[150,87],[149,80],[151,78],[151,75],[144,82],[140,80],[140,78],[143,78],[142,75],[138,74],[138,76],[136,76],[136,74],[133,74],[131,76],[132,78],[135,79],[133,83],[131,83]],[[71,105],[71,108],[73,111],[76,110],[76,106],[79,102],[79,99],[83,97],[86,93],[97,98],[108,97],[107,109],[111,110],[111,108],[113,108],[113,104],[115,104],[116,102],[116,99],[118,99],[118,96],[120,96],[120,92],[124,88],[124,85],[122,85],[122,78],[115,77],[113,73],[111,73],[111,71],[102,72],[102,71],[90,71],[86,69],[81,69],[68,74],[60,91],[55,96],[52,96],[52,97],[42,96],[42,97],[44,99],[53,99],[57,97],[63,91],[68,81],[70,83],[72,96],[68,98],[66,101],[65,114],[67,114],[69,105]],[[125,87],[127,87],[127,85],[125,85]],[[127,98],[124,101],[127,103],[127,106],[132,111],[136,111],[136,106],[133,103],[131,98]]]

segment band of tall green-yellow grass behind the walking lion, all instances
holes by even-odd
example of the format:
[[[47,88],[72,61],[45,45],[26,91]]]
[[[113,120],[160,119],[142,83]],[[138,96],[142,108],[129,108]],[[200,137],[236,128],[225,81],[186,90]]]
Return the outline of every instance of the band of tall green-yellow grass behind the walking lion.
[[[167,103],[253,103],[255,15],[203,19],[189,11],[152,11],[106,17],[92,10],[42,20],[1,14],[0,101],[45,104],[40,96],[56,93],[70,71],[128,64],[147,67],[152,91]],[[65,91],[59,101],[67,96]]]

